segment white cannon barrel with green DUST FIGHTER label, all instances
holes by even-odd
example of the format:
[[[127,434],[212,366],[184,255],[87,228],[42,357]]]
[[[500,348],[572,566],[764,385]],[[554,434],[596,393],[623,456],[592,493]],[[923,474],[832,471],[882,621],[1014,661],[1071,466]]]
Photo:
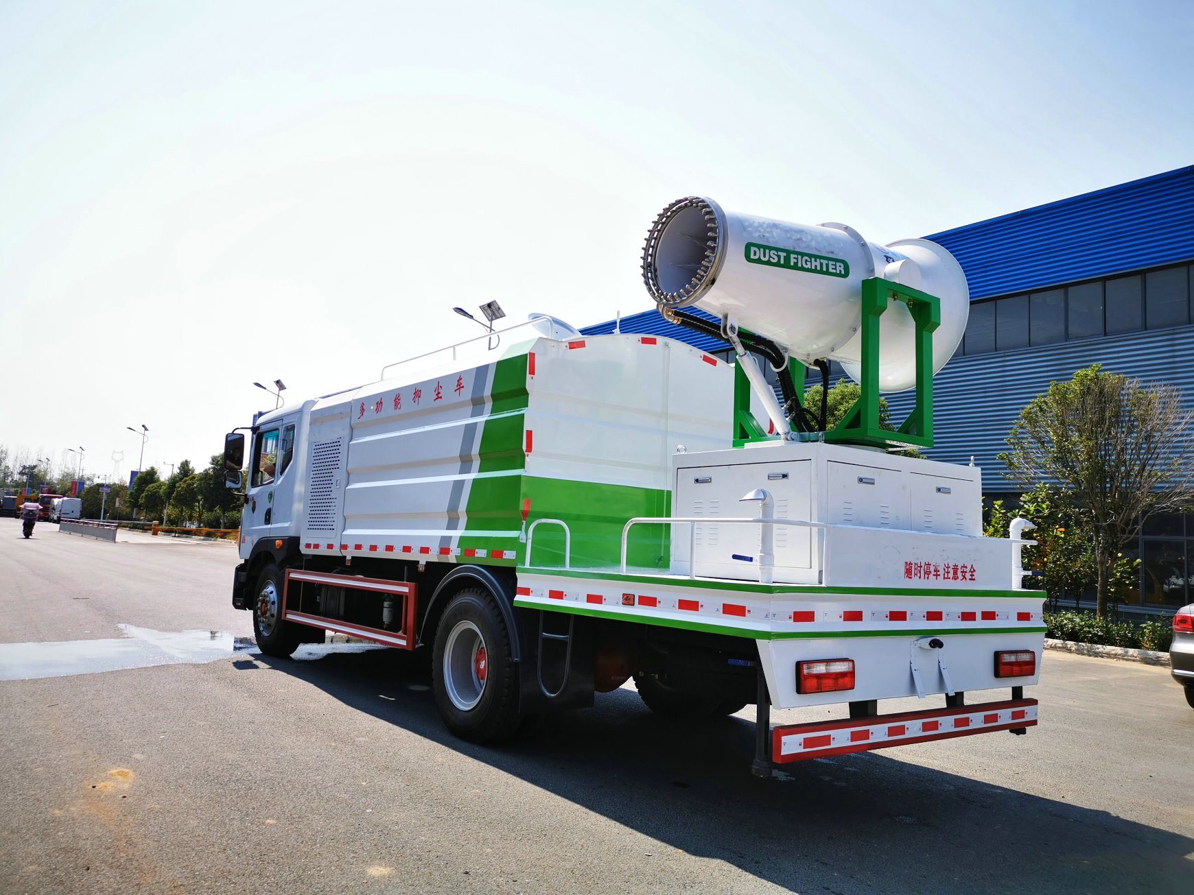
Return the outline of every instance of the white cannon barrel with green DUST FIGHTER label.
[[[861,375],[862,280],[884,277],[941,301],[933,371],[966,331],[970,291],[949,252],[928,240],[881,246],[845,224],[796,224],[727,212],[700,196],[665,208],[647,234],[642,278],[664,308],[696,305],[771,339],[796,359],[837,360]],[[893,303],[880,317],[879,388],[916,384],[916,327]]]

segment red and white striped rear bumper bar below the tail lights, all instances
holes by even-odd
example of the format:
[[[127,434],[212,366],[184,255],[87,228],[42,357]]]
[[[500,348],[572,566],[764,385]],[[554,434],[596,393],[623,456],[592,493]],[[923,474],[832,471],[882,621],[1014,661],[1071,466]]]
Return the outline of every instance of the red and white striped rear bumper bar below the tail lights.
[[[771,759],[778,764],[850,752],[906,746],[928,740],[1035,727],[1036,700],[962,705],[956,709],[876,715],[869,718],[789,724],[771,732]]]

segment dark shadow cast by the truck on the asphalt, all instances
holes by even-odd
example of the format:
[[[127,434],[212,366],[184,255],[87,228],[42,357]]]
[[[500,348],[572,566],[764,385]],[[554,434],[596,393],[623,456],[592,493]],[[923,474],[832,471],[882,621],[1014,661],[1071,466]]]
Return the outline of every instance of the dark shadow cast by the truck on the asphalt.
[[[661,722],[624,690],[480,747],[444,729],[408,655],[258,661],[656,839],[660,857],[670,846],[789,889],[1194,890],[1188,837],[876,753],[759,780],[749,767],[753,724]]]

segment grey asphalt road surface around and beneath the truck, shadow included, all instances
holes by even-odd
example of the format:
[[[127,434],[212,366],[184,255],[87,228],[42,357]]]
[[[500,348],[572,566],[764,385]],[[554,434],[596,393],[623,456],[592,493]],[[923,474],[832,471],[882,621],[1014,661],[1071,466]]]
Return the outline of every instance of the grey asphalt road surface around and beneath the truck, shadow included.
[[[121,624],[150,631],[133,663],[195,658],[152,631],[247,637],[235,562],[0,520],[0,669],[103,665]],[[5,646],[54,641],[94,643]],[[303,652],[0,680],[0,890],[1194,891],[1194,711],[1163,668],[1048,653],[1027,736],[758,780],[749,709],[681,728],[623,689],[482,748],[407,658]]]

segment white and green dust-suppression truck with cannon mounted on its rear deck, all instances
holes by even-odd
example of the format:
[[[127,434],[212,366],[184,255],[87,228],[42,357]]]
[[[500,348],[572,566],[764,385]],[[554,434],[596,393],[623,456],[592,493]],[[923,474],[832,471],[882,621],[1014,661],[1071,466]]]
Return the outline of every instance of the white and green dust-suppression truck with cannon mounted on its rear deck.
[[[660,313],[736,363],[535,316],[261,415],[247,482],[229,434],[233,605],[260,649],[326,631],[427,649],[444,722],[481,742],[630,679],[677,718],[755,704],[761,774],[1034,726],[1028,524],[984,537],[980,470],[906,456],[931,444],[931,376],[965,329],[956,261],[689,197],[642,268]],[[829,360],[862,385],[832,427],[802,406]],[[903,388],[916,409],[880,426],[879,394]],[[881,711],[903,697],[924,708]],[[770,723],[830,704],[836,721]]]

